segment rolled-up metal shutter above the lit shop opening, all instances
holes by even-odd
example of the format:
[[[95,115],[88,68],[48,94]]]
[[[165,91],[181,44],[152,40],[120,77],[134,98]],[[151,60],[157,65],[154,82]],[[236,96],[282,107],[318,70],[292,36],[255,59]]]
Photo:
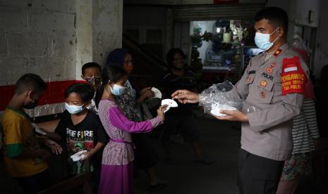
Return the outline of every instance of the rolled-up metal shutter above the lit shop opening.
[[[265,4],[193,5],[174,7],[174,20],[197,21],[224,19],[252,19]]]

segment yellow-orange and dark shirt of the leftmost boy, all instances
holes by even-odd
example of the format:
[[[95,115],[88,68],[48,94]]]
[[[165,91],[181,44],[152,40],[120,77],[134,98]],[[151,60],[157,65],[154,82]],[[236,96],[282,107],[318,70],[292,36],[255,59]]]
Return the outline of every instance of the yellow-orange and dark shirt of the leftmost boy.
[[[25,112],[6,108],[2,115],[4,128],[4,162],[7,172],[13,177],[32,176],[48,169],[41,158],[15,158],[23,150],[36,150],[40,145],[35,136],[30,118]]]

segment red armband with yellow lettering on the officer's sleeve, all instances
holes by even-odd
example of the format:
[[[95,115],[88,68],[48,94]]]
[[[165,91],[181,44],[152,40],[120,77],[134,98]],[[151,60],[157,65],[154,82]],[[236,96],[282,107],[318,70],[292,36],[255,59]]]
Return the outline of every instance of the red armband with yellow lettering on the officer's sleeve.
[[[287,93],[305,93],[305,83],[308,80],[298,56],[293,58],[284,58],[281,71],[282,95]]]

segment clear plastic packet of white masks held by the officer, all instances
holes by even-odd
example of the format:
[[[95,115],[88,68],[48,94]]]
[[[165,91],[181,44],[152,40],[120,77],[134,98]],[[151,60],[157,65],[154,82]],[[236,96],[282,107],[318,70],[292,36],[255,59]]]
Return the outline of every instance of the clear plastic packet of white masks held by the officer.
[[[232,96],[233,84],[224,81],[219,84],[213,84],[208,89],[200,93],[200,105],[204,112],[210,115],[224,117],[221,110],[241,110],[243,101],[234,101]]]

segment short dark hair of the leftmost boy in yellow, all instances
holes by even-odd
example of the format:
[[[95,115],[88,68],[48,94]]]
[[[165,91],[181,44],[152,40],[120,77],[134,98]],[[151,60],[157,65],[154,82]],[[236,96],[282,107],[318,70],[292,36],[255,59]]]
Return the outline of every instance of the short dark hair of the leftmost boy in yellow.
[[[24,91],[45,91],[47,84],[39,75],[28,73],[20,77],[15,85],[15,93],[21,94]]]

